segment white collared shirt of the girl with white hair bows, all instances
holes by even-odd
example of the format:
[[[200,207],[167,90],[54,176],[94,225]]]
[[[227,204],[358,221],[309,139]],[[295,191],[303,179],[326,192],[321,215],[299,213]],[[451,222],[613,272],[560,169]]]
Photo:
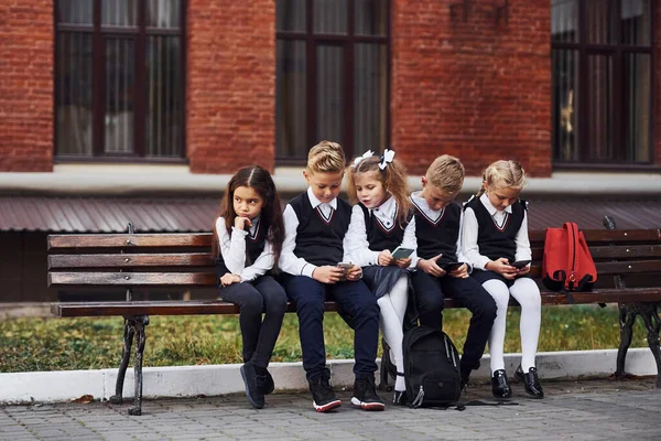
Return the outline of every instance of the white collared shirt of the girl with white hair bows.
[[[384,229],[397,227],[397,202],[394,201],[394,197],[389,197],[388,201],[376,208],[369,208],[370,216],[375,216],[376,222],[380,222]],[[381,251],[372,251],[369,249],[365,214],[360,205],[354,205],[354,208],[351,209],[351,223],[349,224],[349,230],[345,236],[345,240],[344,261],[349,261],[360,267],[378,265],[379,252]],[[418,248],[418,240],[415,238],[415,217],[407,225],[401,246],[412,249]],[[415,268],[415,265],[418,265],[418,255],[414,251],[411,255],[411,266],[409,268],[413,269]]]

